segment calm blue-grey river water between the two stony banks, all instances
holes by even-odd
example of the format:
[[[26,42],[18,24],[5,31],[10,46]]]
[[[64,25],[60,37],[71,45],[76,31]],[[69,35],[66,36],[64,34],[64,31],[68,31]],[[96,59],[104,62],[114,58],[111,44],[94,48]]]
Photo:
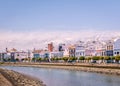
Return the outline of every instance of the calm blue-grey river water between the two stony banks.
[[[47,86],[120,86],[120,76],[34,67],[3,68],[34,76]]]

